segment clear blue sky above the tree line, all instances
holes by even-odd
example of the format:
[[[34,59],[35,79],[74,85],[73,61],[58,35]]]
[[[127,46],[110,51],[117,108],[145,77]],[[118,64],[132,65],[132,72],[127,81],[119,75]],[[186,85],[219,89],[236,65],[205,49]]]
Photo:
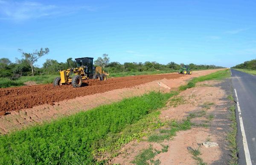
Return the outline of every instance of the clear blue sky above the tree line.
[[[255,0],[0,0],[0,58],[170,61],[232,67],[256,58]]]

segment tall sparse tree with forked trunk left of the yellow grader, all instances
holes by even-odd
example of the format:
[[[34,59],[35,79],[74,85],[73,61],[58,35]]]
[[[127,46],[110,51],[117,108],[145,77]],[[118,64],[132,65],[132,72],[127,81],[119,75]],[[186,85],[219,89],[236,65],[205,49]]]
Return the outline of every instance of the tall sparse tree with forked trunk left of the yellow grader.
[[[43,50],[43,48],[41,48],[40,51],[35,50],[32,53],[23,52],[22,49],[18,49],[18,51],[23,55],[23,57],[25,58],[25,60],[29,64],[29,66],[31,67],[32,76],[34,76],[34,64],[35,64],[35,62],[38,61],[38,58],[41,58],[42,56],[49,53],[48,48],[44,48],[44,50]]]

